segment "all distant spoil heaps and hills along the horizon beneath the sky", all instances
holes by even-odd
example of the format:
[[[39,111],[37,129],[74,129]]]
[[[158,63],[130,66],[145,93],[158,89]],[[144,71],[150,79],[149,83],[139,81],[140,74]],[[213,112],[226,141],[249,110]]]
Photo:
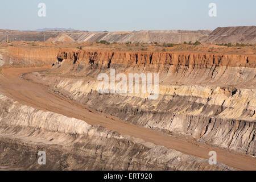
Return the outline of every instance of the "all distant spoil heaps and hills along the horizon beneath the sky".
[[[61,36],[59,36],[61,35]],[[76,31],[73,28],[43,28],[35,31],[0,30],[0,42],[39,41],[44,42],[99,42],[110,43],[183,43],[183,42],[220,42],[220,43],[256,43],[256,26],[218,27],[210,30],[141,30],[127,32]],[[59,36],[59,37],[57,37]],[[49,39],[52,38],[52,39]],[[56,39],[55,39],[56,38]]]

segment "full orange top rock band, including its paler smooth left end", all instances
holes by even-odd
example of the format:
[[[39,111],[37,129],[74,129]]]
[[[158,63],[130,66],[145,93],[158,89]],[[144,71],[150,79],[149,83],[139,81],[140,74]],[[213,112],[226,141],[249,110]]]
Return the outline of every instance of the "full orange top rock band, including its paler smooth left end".
[[[124,52],[124,51],[84,51],[72,48],[21,48],[9,47],[9,56],[22,60],[25,64],[52,64],[59,59],[76,60],[84,64],[123,64],[139,65],[183,65],[208,67],[255,68],[256,55],[228,55],[221,53],[187,52]]]

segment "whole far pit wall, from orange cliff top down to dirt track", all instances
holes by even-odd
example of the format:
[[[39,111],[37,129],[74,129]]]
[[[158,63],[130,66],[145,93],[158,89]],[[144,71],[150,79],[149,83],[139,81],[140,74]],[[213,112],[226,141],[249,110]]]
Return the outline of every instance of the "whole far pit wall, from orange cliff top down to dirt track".
[[[55,91],[123,121],[255,155],[255,55],[62,50]],[[99,73],[159,73],[159,97],[99,94]],[[48,78],[46,78],[48,79]],[[162,83],[163,82],[163,83]]]

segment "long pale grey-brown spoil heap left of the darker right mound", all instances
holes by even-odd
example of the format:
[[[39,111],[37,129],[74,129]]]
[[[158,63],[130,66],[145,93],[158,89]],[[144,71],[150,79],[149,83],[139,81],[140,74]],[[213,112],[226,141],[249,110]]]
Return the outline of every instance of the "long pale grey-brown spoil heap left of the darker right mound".
[[[108,42],[133,42],[133,43],[172,43],[172,42],[195,42],[210,33],[208,30],[162,30],[162,31],[133,31],[133,32],[88,32],[88,31],[43,31],[43,32],[20,32],[11,30],[0,30],[0,41],[40,41],[65,42],[75,40],[77,42],[97,42],[107,40]],[[58,36],[60,38],[58,38]],[[68,38],[67,38],[68,36]]]

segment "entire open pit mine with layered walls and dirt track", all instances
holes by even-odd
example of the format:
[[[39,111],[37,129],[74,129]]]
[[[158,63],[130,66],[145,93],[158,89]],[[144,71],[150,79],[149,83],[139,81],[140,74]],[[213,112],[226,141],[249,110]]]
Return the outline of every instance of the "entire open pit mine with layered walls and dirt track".
[[[256,170],[255,46],[70,44],[1,43],[0,169]],[[112,69],[127,79],[157,73],[158,97],[98,92]]]

